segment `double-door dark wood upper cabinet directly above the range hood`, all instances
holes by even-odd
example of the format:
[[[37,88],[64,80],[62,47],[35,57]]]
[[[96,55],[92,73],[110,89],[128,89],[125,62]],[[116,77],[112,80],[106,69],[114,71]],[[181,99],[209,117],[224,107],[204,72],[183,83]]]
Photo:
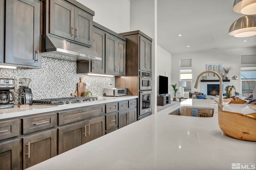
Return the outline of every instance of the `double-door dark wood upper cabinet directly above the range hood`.
[[[64,0],[50,0],[49,33],[92,46],[92,15]]]

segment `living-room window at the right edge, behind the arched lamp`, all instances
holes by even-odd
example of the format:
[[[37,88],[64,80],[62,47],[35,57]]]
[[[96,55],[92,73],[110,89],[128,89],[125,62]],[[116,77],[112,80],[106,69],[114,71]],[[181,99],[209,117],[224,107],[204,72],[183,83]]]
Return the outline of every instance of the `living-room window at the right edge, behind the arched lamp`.
[[[252,89],[256,87],[256,68],[255,70],[243,70],[241,68],[241,82],[242,82],[242,93],[252,92]]]

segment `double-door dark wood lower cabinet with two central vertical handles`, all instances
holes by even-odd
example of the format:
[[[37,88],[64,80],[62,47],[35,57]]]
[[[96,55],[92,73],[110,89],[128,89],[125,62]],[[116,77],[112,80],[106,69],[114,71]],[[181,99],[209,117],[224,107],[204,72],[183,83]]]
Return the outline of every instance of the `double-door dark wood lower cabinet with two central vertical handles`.
[[[105,117],[96,117],[58,128],[59,154],[105,134]]]

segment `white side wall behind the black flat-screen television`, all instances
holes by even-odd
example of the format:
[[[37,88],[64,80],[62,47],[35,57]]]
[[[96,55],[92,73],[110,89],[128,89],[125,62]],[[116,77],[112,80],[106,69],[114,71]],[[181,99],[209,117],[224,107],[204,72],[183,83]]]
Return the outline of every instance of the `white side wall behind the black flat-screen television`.
[[[171,76],[172,76],[172,54],[168,51],[157,46],[157,84],[158,84],[158,76],[168,76],[168,94],[172,93],[171,89]],[[159,85],[157,86],[157,91],[159,91]]]

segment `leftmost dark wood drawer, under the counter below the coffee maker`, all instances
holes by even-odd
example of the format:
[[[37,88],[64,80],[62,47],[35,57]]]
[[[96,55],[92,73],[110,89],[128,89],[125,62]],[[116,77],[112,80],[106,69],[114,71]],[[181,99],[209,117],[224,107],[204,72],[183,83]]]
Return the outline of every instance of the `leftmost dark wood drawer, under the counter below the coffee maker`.
[[[16,137],[20,134],[18,119],[0,122],[0,140]]]

